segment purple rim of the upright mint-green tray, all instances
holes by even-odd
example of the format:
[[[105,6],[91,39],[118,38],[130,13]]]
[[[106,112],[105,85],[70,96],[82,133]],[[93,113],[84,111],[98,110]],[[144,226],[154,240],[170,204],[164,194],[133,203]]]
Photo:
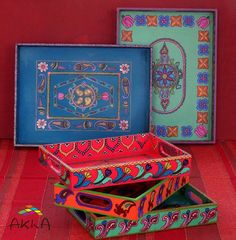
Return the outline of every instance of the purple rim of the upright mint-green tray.
[[[218,49],[218,9],[217,8],[140,8],[140,7],[118,7],[116,9],[116,44],[119,44],[119,30],[120,30],[120,12],[121,11],[173,11],[173,12],[213,12],[214,14],[214,42],[213,42],[213,83],[212,83],[212,138],[211,140],[169,140],[171,143],[177,144],[215,144],[216,143],[216,105],[217,105],[217,49]],[[124,45],[124,44],[121,44]],[[128,46],[135,46],[135,45],[128,45]],[[151,114],[151,112],[150,112]],[[151,127],[151,121],[150,121]],[[149,129],[150,130],[150,129]]]

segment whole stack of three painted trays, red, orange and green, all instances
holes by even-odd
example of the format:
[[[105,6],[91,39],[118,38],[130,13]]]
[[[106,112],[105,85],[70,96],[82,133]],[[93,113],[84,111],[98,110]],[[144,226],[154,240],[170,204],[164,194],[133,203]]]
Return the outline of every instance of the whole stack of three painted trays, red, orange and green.
[[[152,133],[42,145],[59,183],[54,202],[94,238],[216,222],[216,203],[189,185],[191,155]]]

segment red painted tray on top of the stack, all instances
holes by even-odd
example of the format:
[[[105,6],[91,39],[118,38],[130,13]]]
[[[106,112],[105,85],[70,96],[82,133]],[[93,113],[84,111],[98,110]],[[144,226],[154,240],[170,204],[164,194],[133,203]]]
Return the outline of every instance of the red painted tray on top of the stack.
[[[72,191],[189,175],[191,155],[152,133],[39,147],[40,161]]]

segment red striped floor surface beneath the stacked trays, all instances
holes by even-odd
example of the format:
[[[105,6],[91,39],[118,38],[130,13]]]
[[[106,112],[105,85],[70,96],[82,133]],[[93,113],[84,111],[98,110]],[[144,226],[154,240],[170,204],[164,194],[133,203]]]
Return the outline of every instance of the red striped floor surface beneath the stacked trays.
[[[218,223],[117,239],[236,239],[236,141],[182,147],[193,155],[191,183],[219,205]],[[11,140],[0,140],[0,239],[92,239],[65,209],[53,205],[56,180],[39,165],[37,154],[35,148],[15,149]],[[19,215],[25,205],[39,208],[43,216]]]

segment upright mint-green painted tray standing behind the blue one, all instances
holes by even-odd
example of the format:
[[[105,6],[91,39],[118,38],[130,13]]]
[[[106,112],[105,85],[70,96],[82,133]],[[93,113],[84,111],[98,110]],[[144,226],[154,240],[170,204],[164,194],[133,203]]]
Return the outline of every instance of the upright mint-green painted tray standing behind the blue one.
[[[215,10],[118,9],[117,43],[149,44],[152,132],[172,142],[215,141]]]

